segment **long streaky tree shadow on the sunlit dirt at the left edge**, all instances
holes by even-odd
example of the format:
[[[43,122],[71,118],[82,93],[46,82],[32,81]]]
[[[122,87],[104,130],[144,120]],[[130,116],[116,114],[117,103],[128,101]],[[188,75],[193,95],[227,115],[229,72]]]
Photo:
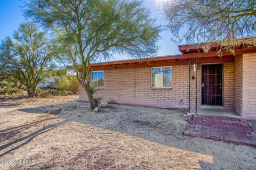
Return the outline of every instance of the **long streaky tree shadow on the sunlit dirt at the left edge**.
[[[39,134],[49,132],[49,131],[57,128],[61,124],[64,124],[64,123],[67,122],[67,120],[63,120],[63,121],[59,121],[57,123],[49,124],[49,125],[44,126],[43,128],[41,128],[41,129],[39,129],[39,130],[37,130],[33,133],[30,133],[30,134],[26,135],[25,137],[22,137],[22,135],[20,135],[21,136],[20,138],[18,137],[18,138],[12,139],[18,133],[21,133],[22,131],[25,131],[26,129],[31,128],[31,127],[35,126],[36,124],[38,124],[38,123],[42,123],[42,122],[45,122],[45,121],[48,121],[48,120],[53,120],[53,119],[56,119],[56,118],[57,117],[50,117],[50,118],[46,118],[46,119],[41,120],[41,121],[36,121],[36,122],[33,122],[33,123],[28,123],[28,124],[25,124],[25,125],[20,125],[20,126],[16,126],[16,127],[13,127],[13,128],[9,128],[9,129],[5,129],[5,130],[0,131],[1,143],[3,143],[4,141],[7,141],[7,140],[12,140],[12,141],[0,146],[0,151],[6,149],[8,147],[14,146],[17,143],[19,144],[21,142],[21,144],[19,144],[18,146],[15,146],[15,147],[7,150],[7,151],[4,151],[2,154],[0,154],[0,157],[8,154],[11,151],[19,149],[20,147],[22,147],[24,145],[27,145],[31,140],[33,140]]]

